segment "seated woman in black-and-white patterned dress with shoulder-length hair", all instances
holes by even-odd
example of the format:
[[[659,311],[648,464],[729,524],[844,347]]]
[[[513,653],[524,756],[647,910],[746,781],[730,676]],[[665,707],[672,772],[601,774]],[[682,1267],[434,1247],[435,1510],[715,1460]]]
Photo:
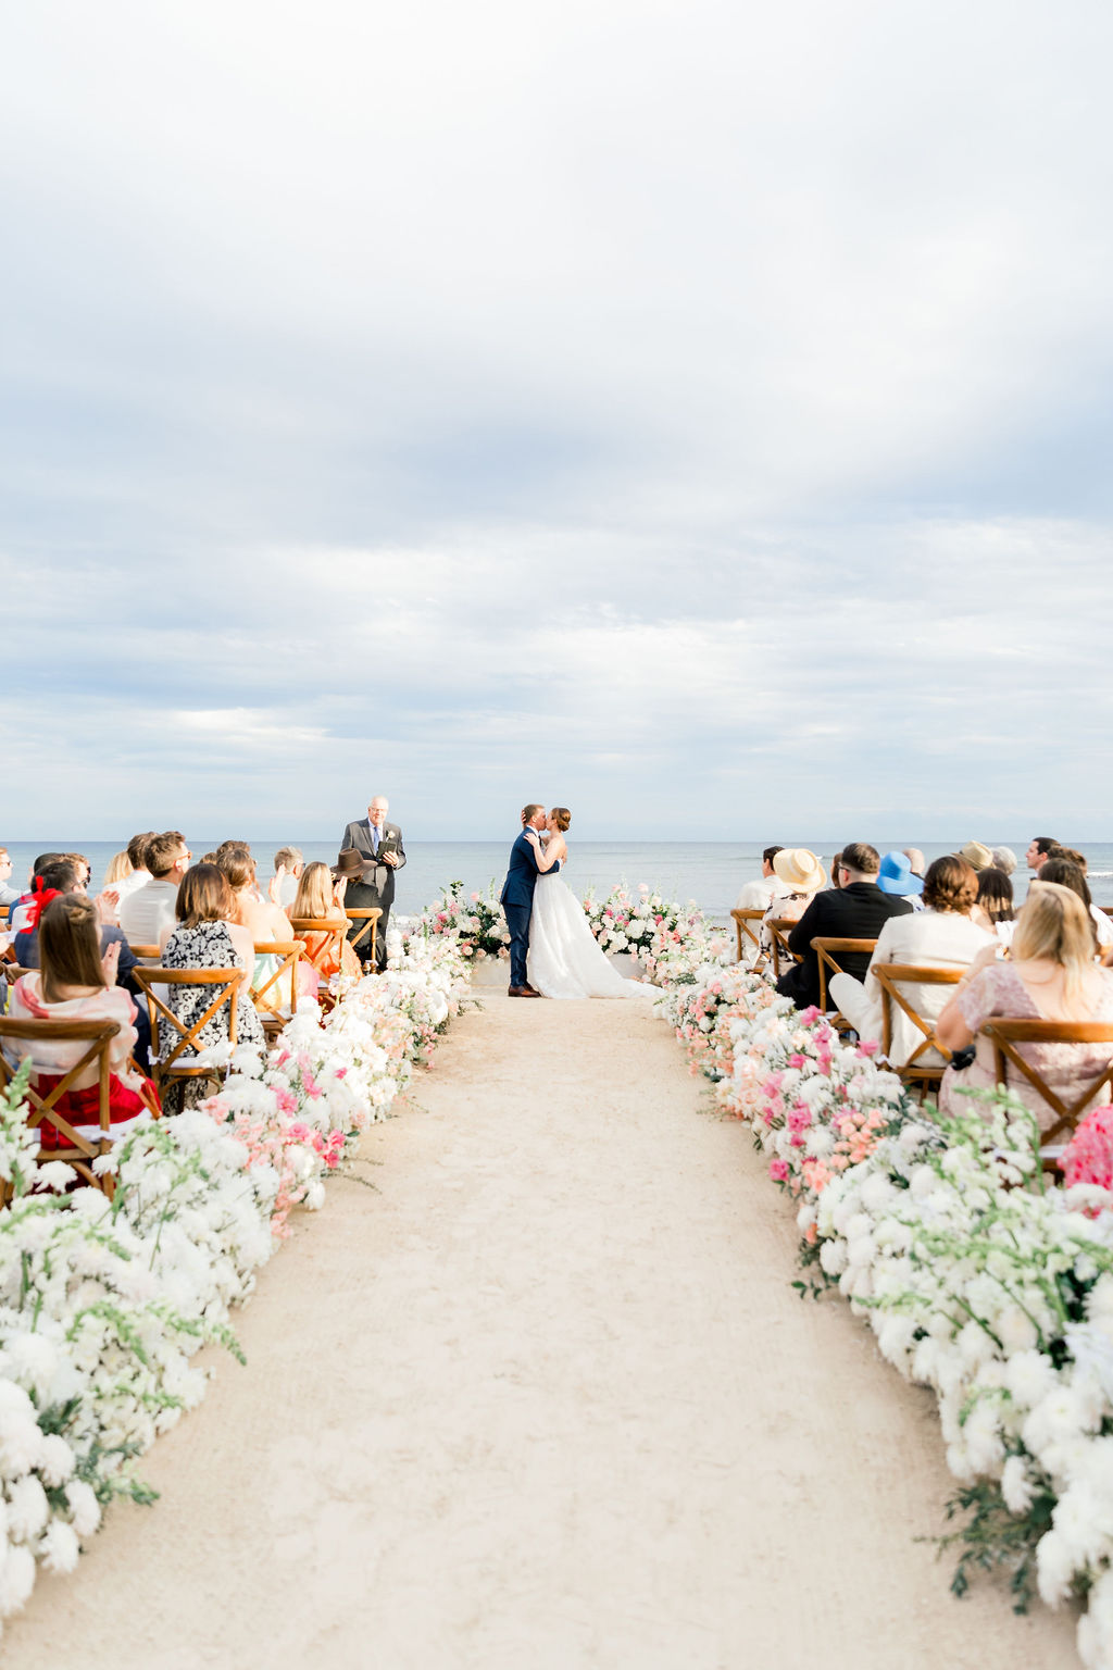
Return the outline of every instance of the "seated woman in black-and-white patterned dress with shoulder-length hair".
[[[177,892],[177,925],[165,932],[162,944],[164,969],[244,969],[250,974],[255,960],[255,945],[250,932],[232,920],[232,888],[222,870],[212,863],[197,863],[187,870]],[[289,925],[287,925],[289,934]],[[167,1009],[170,1009],[185,1027],[205,1014],[212,1002],[212,987],[207,985],[167,985]],[[235,997],[235,1032],[237,1044],[250,1044],[264,1049],[264,1030],[255,1005],[250,1000],[249,980],[245,979]],[[169,1035],[169,1025],[162,1029],[162,1055],[170,1054],[179,1034]],[[227,1044],[229,1040],[229,1005],[222,1004],[200,1030],[204,1047]],[[180,1059],[180,1057],[179,1057]],[[204,1101],[207,1091],[194,1094],[190,1086],[185,1094],[185,1106]]]

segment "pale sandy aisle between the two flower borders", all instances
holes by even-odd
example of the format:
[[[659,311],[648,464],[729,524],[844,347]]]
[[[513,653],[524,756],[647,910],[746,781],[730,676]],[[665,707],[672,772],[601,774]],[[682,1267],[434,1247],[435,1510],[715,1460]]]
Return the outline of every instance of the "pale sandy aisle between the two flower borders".
[[[961,1605],[926,1394],[634,1004],[487,1000],[364,1141],[204,1406],[5,1667],[1076,1670]]]

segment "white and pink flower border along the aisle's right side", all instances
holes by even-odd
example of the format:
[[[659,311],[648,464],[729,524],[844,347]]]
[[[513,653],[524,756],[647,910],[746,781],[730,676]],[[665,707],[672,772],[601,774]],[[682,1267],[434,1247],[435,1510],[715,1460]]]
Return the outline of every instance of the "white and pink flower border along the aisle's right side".
[[[1005,1092],[939,1119],[873,1050],[738,969],[662,1004],[724,1112],[793,1199],[801,1291],[836,1286],[883,1356],[938,1399],[954,1590],[1008,1570],[1018,1610],[1085,1597],[1080,1653],[1113,1670],[1113,1109],[1080,1126],[1066,1187]]]

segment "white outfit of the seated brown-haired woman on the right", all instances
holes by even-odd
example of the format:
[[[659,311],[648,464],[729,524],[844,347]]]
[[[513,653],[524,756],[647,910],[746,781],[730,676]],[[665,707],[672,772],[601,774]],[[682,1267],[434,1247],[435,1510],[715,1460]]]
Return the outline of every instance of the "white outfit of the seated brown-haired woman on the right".
[[[851,974],[833,975],[831,1002],[838,1004],[859,1037],[881,1042],[881,987],[873,972],[874,964],[904,962],[919,964],[924,969],[968,969],[985,945],[996,944],[995,934],[986,934],[969,917],[961,917],[954,910],[916,910],[911,915],[889,917],[878,935],[864,984],[859,984]],[[908,982],[901,990],[924,1020],[938,1020],[954,995],[953,985]],[[889,1062],[894,1067],[903,1067],[918,1044],[923,1044],[923,1032],[894,1004]],[[938,1050],[924,1050],[916,1059],[916,1065],[938,1065],[941,1060]]]

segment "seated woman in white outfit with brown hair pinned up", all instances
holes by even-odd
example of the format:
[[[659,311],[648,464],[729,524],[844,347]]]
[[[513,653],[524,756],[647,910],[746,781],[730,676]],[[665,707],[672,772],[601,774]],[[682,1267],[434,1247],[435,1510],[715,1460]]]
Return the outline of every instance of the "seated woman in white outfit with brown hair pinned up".
[[[990,872],[983,872],[988,875]],[[995,872],[1006,885],[1008,878]],[[881,1040],[883,994],[874,969],[888,964],[914,964],[921,969],[968,969],[978,952],[993,945],[993,937],[971,922],[969,912],[978,892],[978,877],[964,858],[948,855],[936,858],[923,883],[924,908],[906,917],[889,917],[878,934],[878,944],[864,984],[851,974],[831,977],[831,1004],[836,1005],[861,1039]],[[909,982],[901,987],[908,1002],[924,1020],[933,1022],[946,1007],[953,987],[921,985]],[[899,1004],[891,1005],[893,1037],[889,1062],[903,1067],[924,1035]],[[916,1057],[916,1065],[934,1065],[943,1057],[926,1050]]]

